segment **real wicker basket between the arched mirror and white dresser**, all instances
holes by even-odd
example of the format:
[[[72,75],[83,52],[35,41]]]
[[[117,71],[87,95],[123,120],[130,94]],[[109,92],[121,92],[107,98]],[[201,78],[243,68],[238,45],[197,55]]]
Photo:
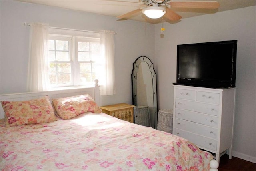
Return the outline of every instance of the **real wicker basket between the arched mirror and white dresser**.
[[[173,110],[172,109],[161,109],[158,112],[157,129],[172,133],[172,120]]]

